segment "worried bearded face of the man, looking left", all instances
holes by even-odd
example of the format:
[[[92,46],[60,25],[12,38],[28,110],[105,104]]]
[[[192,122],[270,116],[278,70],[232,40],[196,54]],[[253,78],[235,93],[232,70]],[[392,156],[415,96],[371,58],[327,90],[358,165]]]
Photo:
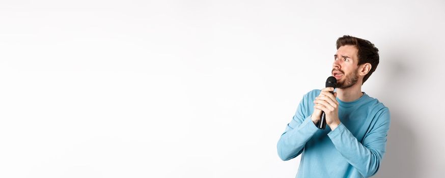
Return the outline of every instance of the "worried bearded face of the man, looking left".
[[[337,79],[337,88],[348,88],[358,81],[358,49],[352,45],[341,46],[334,55],[332,76]]]

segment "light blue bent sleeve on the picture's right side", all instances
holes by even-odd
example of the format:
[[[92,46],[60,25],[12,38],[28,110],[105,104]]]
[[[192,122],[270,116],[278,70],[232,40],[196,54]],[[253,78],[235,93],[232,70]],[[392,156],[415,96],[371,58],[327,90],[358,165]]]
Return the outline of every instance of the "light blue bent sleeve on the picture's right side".
[[[390,111],[385,108],[375,115],[362,143],[342,124],[327,135],[337,151],[365,177],[374,175],[385,153],[386,135],[390,129]]]

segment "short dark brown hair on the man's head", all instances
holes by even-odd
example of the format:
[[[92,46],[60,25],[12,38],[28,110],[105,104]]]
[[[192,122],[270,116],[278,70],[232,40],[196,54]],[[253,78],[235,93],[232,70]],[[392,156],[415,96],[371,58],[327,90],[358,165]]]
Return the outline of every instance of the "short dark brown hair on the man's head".
[[[358,49],[358,65],[369,63],[372,66],[369,73],[363,77],[363,82],[361,83],[363,85],[375,69],[377,69],[377,65],[379,64],[379,50],[370,41],[349,35],[344,35],[337,40],[337,49],[344,45],[353,45]]]

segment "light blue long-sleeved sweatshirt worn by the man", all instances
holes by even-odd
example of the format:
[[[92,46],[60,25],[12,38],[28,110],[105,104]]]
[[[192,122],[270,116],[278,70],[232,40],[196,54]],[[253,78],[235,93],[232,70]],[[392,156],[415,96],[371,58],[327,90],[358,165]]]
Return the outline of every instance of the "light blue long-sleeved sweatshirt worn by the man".
[[[284,161],[301,154],[296,177],[369,177],[385,153],[390,111],[366,93],[340,103],[341,124],[333,131],[318,129],[311,120],[320,90],[303,96],[297,111],[277,144]]]

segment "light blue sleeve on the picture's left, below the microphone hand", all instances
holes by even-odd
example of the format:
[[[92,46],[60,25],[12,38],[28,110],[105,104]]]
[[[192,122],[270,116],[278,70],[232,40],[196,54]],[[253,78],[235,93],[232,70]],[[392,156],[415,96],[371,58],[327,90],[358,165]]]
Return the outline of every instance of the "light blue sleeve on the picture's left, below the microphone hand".
[[[298,105],[291,122],[277,143],[279,157],[283,161],[293,159],[303,151],[304,144],[318,131],[311,120],[311,115],[304,114],[308,110],[308,96],[304,95]],[[312,101],[311,101],[312,102]]]

